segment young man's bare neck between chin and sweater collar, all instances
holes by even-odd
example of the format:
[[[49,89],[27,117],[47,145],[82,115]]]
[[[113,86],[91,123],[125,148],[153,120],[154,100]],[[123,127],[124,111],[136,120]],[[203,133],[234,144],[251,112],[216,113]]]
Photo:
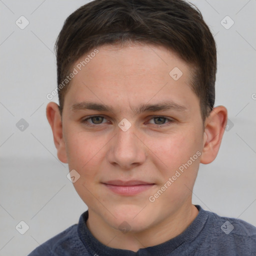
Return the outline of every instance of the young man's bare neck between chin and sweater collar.
[[[86,225],[92,235],[106,246],[137,251],[139,248],[154,246],[182,233],[198,214],[197,208],[183,205],[172,215],[139,232],[122,233],[109,226],[99,215],[88,209]]]

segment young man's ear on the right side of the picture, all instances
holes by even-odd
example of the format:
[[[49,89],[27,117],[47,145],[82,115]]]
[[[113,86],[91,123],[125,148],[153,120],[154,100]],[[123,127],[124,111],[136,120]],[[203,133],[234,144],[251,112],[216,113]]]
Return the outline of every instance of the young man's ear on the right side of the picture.
[[[214,107],[205,119],[201,163],[210,163],[216,158],[226,121],[227,110],[224,106]]]

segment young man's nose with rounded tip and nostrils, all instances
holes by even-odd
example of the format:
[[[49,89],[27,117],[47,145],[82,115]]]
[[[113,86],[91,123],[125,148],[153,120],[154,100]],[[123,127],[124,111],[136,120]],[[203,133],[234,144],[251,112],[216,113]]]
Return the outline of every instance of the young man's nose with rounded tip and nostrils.
[[[116,132],[107,153],[108,162],[122,169],[142,164],[146,159],[146,147],[141,135],[132,126],[126,131],[117,127]]]

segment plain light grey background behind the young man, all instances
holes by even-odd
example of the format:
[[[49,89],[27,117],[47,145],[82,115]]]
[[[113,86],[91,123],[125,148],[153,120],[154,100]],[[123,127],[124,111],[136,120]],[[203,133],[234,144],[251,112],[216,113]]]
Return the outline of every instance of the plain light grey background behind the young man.
[[[56,157],[45,117],[46,94],[56,87],[55,39],[86,2],[0,0],[0,255],[27,255],[87,209]],[[191,2],[214,34],[216,105],[227,107],[233,123],[215,161],[200,166],[192,202],[256,225],[256,1]],[[21,15],[29,21],[24,29],[15,24]],[[226,15],[234,21],[229,29],[220,23]],[[21,118],[29,124],[23,131],[16,127]],[[21,220],[29,226],[23,235],[15,229]]]

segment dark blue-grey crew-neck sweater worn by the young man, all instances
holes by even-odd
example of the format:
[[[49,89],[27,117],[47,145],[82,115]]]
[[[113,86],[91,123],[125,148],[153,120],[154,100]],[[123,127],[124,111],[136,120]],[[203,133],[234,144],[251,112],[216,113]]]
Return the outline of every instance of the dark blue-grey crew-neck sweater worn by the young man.
[[[88,211],[85,211],[78,224],[47,240],[28,256],[256,256],[255,226],[195,206],[199,212],[181,234],[137,252],[111,248],[99,242],[86,226]]]

